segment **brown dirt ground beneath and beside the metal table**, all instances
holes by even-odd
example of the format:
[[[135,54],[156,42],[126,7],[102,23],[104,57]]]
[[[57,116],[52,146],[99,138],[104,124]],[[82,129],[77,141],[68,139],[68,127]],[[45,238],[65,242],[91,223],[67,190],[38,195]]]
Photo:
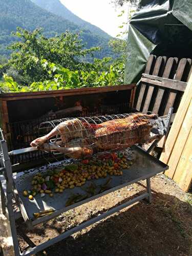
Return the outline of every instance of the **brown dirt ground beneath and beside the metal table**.
[[[44,254],[68,256],[177,256],[192,255],[192,196],[164,175],[151,179],[153,200],[127,207],[46,249]],[[127,186],[70,210],[49,223],[27,230],[18,220],[20,247],[45,242],[78,223],[130,199],[145,190],[145,181]],[[33,244],[34,243],[34,244]],[[40,254],[38,254],[40,255]]]

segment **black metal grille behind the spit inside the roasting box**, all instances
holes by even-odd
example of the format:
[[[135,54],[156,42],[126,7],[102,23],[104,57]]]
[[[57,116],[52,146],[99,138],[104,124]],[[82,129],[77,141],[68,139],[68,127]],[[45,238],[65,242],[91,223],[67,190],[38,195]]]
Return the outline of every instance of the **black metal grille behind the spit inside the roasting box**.
[[[65,115],[51,115],[44,118],[37,118],[34,120],[28,121],[19,121],[9,123],[7,125],[8,133],[11,135],[7,140],[9,151],[17,150],[20,148],[25,148],[30,145],[30,142],[39,136],[39,124],[42,122],[51,121],[54,119],[63,119],[63,118],[74,118],[77,116],[99,116],[99,115],[114,115],[119,113],[129,112],[129,103],[121,102],[113,105],[102,105],[98,106],[97,109],[89,109],[87,111],[74,112]],[[31,164],[33,161],[45,161],[46,159],[52,159],[53,154],[36,151],[36,152],[28,152],[22,155],[10,156],[12,164]]]

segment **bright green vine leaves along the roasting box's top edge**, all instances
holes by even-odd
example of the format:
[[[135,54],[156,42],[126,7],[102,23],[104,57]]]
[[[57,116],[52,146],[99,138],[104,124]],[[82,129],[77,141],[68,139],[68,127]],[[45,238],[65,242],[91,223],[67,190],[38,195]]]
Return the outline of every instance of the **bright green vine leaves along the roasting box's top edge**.
[[[70,71],[46,59],[41,61],[41,67],[49,79],[32,82],[29,87],[20,86],[12,77],[4,75],[5,82],[0,82],[0,91],[3,92],[28,92],[63,90],[81,87],[113,86],[123,83],[123,64],[110,65],[108,71]]]

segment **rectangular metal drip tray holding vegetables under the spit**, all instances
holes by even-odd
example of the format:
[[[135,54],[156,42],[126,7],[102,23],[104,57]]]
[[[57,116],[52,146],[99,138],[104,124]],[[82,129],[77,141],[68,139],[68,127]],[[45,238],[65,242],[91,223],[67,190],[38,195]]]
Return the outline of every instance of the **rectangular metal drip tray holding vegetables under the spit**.
[[[122,176],[107,176],[106,178],[100,178],[98,180],[87,181],[82,187],[75,187],[73,189],[65,189],[62,194],[54,194],[54,197],[49,197],[46,195],[45,197],[41,198],[38,194],[35,196],[34,200],[30,201],[28,197],[23,196],[24,189],[31,188],[31,181],[33,176],[38,173],[46,173],[48,167],[57,167],[59,165],[69,164],[70,160],[61,161],[51,164],[50,166],[42,166],[36,169],[30,169],[22,173],[15,173],[13,174],[13,180],[15,184],[15,195],[17,195],[20,210],[22,211],[22,215],[25,221],[30,221],[32,225],[36,225],[38,223],[48,221],[49,219],[54,218],[55,216],[61,214],[62,212],[68,211],[69,209],[75,208],[78,205],[87,203],[91,200],[99,198],[103,195],[111,193],[117,189],[120,189],[124,186],[133,184],[137,181],[144,180],[150,178],[158,173],[163,172],[167,169],[167,165],[160,162],[158,159],[154,158],[153,156],[147,154],[141,148],[134,146],[133,147],[133,165],[129,169],[123,170]],[[72,194],[79,193],[80,195],[86,194],[86,192],[82,189],[92,182],[94,182],[97,186],[103,185],[109,177],[112,177],[110,183],[110,189],[105,190],[103,193],[95,195],[93,197],[87,198],[83,201],[75,203],[66,207],[67,200],[72,196]],[[41,217],[39,219],[34,219],[33,213],[39,212],[42,210],[53,208],[55,211],[53,214],[45,217]]]

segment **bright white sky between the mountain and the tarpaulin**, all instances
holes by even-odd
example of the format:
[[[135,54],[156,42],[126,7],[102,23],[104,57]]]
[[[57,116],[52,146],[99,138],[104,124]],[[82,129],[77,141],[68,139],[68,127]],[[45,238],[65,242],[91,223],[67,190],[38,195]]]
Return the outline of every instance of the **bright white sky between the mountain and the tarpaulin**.
[[[127,7],[116,9],[110,4],[111,0],[60,0],[60,2],[80,18],[114,37],[122,31],[118,26],[127,22],[127,14],[118,17],[121,10],[127,13]]]

